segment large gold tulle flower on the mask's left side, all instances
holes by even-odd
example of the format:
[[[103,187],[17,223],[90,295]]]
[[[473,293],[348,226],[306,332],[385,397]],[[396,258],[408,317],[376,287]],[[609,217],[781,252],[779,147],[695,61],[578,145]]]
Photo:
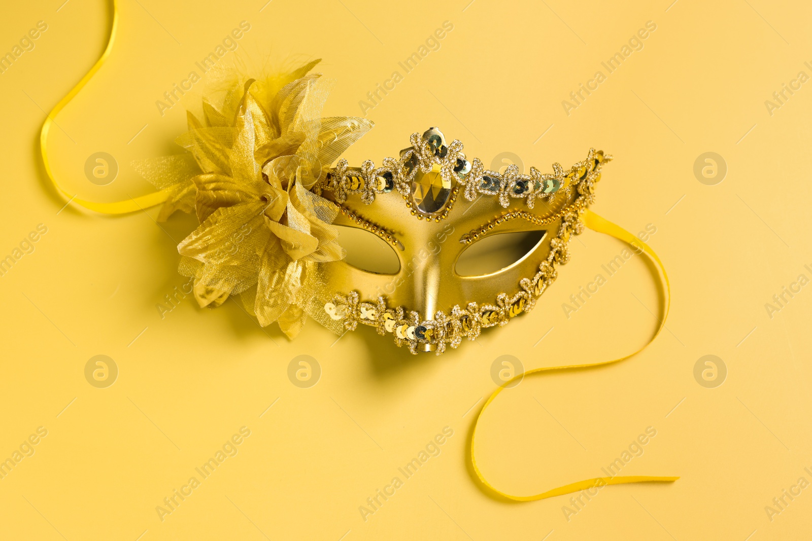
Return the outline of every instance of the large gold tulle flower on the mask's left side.
[[[338,208],[311,188],[372,127],[363,118],[321,118],[330,82],[306,75],[248,79],[222,105],[203,100],[176,142],[188,155],[135,163],[155,186],[172,187],[159,219],[194,212],[200,225],[179,243],[179,272],[194,278],[201,307],[240,294],[262,326],[299,333],[321,285],[320,264],[343,259],[331,225]]]

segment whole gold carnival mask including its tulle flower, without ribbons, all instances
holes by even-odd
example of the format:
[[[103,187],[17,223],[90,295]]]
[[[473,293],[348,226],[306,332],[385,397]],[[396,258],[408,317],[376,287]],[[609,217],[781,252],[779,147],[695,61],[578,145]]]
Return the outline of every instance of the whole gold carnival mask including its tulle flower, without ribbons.
[[[159,218],[197,214],[178,250],[201,307],[239,294],[261,325],[278,322],[288,337],[309,315],[336,333],[373,326],[413,354],[442,354],[532,310],[568,261],[611,157],[593,149],[568,170],[500,173],[432,127],[412,134],[398,159],[351,168],[336,160],[372,122],[321,118],[329,84],[305,75],[316,62],[204,98],[202,118],[189,113],[176,140],[187,154],[133,164],[167,192]],[[378,235],[399,268],[348,264],[335,225]],[[483,238],[531,232],[534,246],[512,264],[460,274],[460,258]]]

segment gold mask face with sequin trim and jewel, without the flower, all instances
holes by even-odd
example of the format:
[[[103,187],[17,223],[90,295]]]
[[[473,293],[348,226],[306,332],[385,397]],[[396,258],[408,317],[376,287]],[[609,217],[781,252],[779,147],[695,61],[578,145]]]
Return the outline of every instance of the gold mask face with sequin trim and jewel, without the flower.
[[[555,280],[555,265],[568,261],[567,244],[583,230],[581,213],[611,157],[593,149],[569,170],[555,164],[549,174],[535,167],[520,174],[509,165],[499,173],[469,161],[462,143],[447,144],[436,127],[412,134],[411,143],[380,167],[341,160],[315,187],[339,204],[336,225],[372,231],[396,248],[400,263],[394,274],[327,264],[327,289],[348,293],[324,310],[345,328],[371,325],[412,353],[441,354],[533,308]],[[460,274],[460,258],[483,238],[527,232],[538,232],[538,241],[512,264]]]

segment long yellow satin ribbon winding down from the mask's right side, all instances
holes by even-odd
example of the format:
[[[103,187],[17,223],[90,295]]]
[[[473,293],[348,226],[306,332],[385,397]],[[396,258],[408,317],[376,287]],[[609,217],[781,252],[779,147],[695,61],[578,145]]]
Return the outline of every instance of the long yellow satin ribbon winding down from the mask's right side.
[[[590,367],[601,367],[607,364],[614,364],[620,363],[634,355],[640,353],[642,350],[645,350],[646,347],[649,346],[651,342],[654,341],[659,336],[660,331],[663,330],[665,327],[665,320],[668,317],[668,309],[671,306],[671,286],[668,283],[668,275],[665,272],[665,267],[663,266],[663,262],[659,259],[654,250],[651,247],[641,241],[639,238],[635,237],[633,234],[629,233],[627,230],[624,230],[620,225],[613,224],[611,221],[608,221],[602,217],[599,217],[597,214],[593,213],[590,210],[587,210],[584,214],[584,223],[590,230],[597,231],[598,233],[603,233],[610,235],[611,237],[617,238],[622,240],[624,243],[628,243],[633,248],[637,250],[645,251],[646,254],[649,255],[651,260],[657,265],[659,271],[663,273],[663,285],[665,286],[665,311],[663,313],[663,319],[659,321],[659,326],[657,327],[657,332],[651,337],[651,339],[646,343],[645,346],[642,346],[639,350],[625,355],[624,357],[620,357],[619,359],[611,359],[609,361],[601,361],[599,363],[587,363],[587,364],[570,364],[561,367],[542,367],[542,368],[533,368],[533,370],[525,371],[517,376],[513,376],[510,380],[506,381],[503,386],[496,389],[493,394],[490,395],[490,398],[485,402],[482,406],[482,410],[479,411],[477,415],[477,419],[473,423],[473,431],[471,433],[471,464],[473,466],[473,470],[477,473],[477,477],[479,480],[484,484],[486,487],[490,488],[491,491],[496,492],[499,496],[503,496],[508,498],[509,500],[515,501],[533,501],[533,500],[543,500],[545,498],[550,498],[552,496],[561,496],[563,494],[569,494],[570,492],[577,492],[581,490],[585,490],[592,487],[598,487],[603,485],[617,485],[617,484],[624,484],[624,483],[663,483],[663,482],[673,482],[676,479],[680,479],[679,477],[670,477],[670,476],[655,476],[655,475],[615,475],[615,477],[595,477],[593,479],[585,479],[583,481],[578,481],[577,483],[569,483],[564,485],[563,487],[552,488],[551,490],[540,492],[538,494],[533,494],[530,496],[514,496],[512,494],[508,494],[507,492],[502,492],[498,488],[494,487],[492,484],[488,483],[485,476],[482,475],[482,471],[479,470],[479,466],[477,466],[477,455],[476,455],[476,440],[477,440],[477,426],[479,425],[479,420],[482,419],[482,414],[485,413],[485,410],[488,409],[490,403],[495,400],[499,393],[501,393],[512,381],[520,380],[526,376],[532,375],[541,375],[546,372],[551,371],[564,371],[569,369],[583,369],[583,368],[590,368]]]

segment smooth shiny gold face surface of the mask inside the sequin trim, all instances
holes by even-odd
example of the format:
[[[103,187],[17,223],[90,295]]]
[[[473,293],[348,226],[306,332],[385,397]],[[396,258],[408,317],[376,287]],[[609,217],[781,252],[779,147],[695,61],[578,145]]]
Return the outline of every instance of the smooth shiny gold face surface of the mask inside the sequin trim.
[[[326,197],[330,198],[329,191]],[[404,204],[404,198],[396,192],[378,195],[373,204],[364,204],[359,195],[348,195],[343,208],[350,209],[353,214],[363,213],[369,221],[386,224],[387,230],[398,238],[403,247],[402,250],[395,250],[400,269],[392,274],[371,273],[353,267],[346,261],[331,262],[326,264],[325,269],[327,290],[353,291],[361,301],[369,303],[384,297],[387,307],[416,311],[421,320],[434,319],[438,311],[448,314],[455,306],[493,303],[500,293],[512,296],[519,292],[520,281],[538,272],[539,264],[550,254],[551,241],[559,232],[562,216],[575,206],[579,198],[582,202],[583,196],[574,189],[561,191],[549,204],[539,201],[530,219],[527,218],[530,214],[524,200],[512,200],[508,208],[503,208],[495,197],[482,195],[473,201],[460,198],[447,219],[433,221],[417,220],[411,208]],[[522,215],[525,219],[506,219],[505,215]],[[343,214],[339,215],[335,224],[358,226],[356,221],[349,220]],[[505,268],[480,276],[461,276],[456,272],[457,261],[464,251],[477,242],[470,238],[470,232],[482,230],[483,227],[490,234],[529,231],[550,231],[553,234],[544,234],[531,251]],[[539,289],[535,293],[541,291]],[[508,309],[509,317],[524,311],[523,301],[520,299]],[[483,323],[487,324],[486,318],[483,319]],[[401,324],[400,327],[393,328],[395,335],[400,339],[413,340],[414,337],[407,335],[409,326]],[[427,337],[430,337],[430,333]],[[417,347],[422,351],[432,351],[436,345],[421,342]]]

